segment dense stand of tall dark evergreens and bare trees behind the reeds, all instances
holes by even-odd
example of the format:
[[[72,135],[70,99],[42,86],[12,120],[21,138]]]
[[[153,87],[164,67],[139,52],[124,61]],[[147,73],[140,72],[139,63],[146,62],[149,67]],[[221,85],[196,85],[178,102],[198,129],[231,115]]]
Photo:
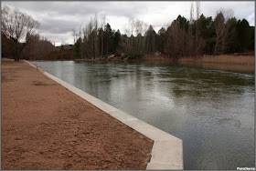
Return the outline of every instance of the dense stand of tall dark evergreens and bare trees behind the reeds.
[[[237,20],[232,10],[219,10],[212,18],[200,14],[199,4],[191,6],[190,18],[178,15],[171,25],[158,33],[152,25],[130,18],[125,34],[105,25],[105,16],[97,15],[83,28],[73,30],[77,58],[106,57],[118,53],[162,54],[170,58],[221,55],[254,51],[254,26]]]

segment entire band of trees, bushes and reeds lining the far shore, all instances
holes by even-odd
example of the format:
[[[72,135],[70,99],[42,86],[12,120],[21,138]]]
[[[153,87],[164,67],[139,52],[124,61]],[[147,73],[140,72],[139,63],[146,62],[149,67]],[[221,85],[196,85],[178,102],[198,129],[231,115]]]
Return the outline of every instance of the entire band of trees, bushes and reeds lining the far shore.
[[[238,20],[232,10],[220,9],[213,18],[196,15],[191,5],[190,18],[178,15],[158,33],[152,25],[130,18],[125,33],[106,24],[105,15],[95,15],[80,29],[72,30],[74,45],[55,47],[38,35],[39,23],[31,16],[7,6],[2,10],[2,56],[29,60],[175,60],[188,62],[234,63],[254,65],[254,26],[246,19]],[[23,17],[22,17],[23,16]],[[26,16],[26,17],[25,17]],[[31,29],[13,32],[19,22]],[[11,26],[8,26],[11,25]],[[26,27],[25,26],[25,27]],[[26,42],[21,42],[26,39]],[[239,55],[236,55],[238,54]],[[251,57],[244,57],[251,54]],[[228,57],[229,55],[229,57]]]

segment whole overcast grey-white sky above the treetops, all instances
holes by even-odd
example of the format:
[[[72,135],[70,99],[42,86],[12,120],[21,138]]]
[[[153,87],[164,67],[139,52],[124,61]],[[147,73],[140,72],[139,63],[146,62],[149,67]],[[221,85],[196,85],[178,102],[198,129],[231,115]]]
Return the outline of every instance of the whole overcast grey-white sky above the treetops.
[[[106,15],[106,23],[112,29],[120,29],[124,33],[130,17],[143,20],[147,25],[153,25],[156,32],[166,25],[170,25],[177,15],[189,18],[191,1],[98,1],[98,2],[2,2],[10,8],[18,8],[28,15],[32,15],[40,22],[40,35],[46,36],[55,45],[61,43],[73,44],[72,29],[80,28],[90,21],[95,14]],[[195,2],[194,2],[194,6]],[[200,2],[200,11],[205,16],[216,15],[220,9],[232,9],[237,19],[245,18],[250,25],[254,23],[253,1],[208,1]],[[196,11],[196,10],[195,10]]]

